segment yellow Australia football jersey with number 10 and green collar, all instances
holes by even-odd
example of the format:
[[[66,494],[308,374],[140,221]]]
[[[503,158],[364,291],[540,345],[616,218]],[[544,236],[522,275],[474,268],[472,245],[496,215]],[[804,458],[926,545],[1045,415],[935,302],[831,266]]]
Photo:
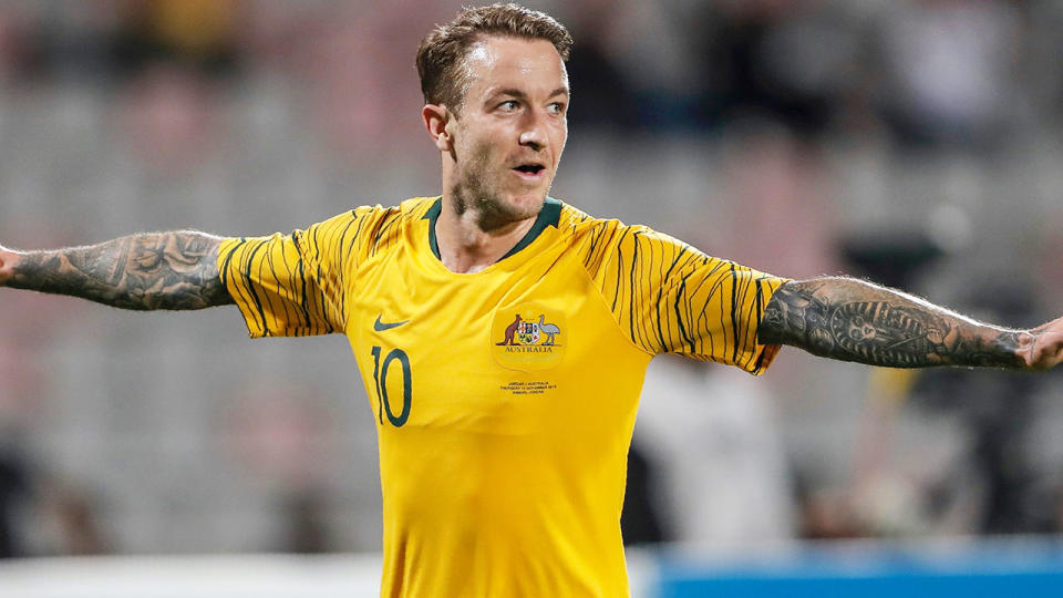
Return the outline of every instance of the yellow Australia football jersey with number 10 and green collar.
[[[548,198],[476,274],[438,259],[441,199],[221,244],[251,337],[342,332],[376,422],[384,597],[628,596],[620,509],[646,367],[758,374],[784,282]]]

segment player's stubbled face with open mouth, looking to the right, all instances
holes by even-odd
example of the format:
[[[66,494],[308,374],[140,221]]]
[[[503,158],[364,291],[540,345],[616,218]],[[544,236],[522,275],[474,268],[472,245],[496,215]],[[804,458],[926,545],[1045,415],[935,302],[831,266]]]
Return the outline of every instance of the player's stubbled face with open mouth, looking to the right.
[[[565,64],[548,41],[488,38],[465,68],[464,103],[446,125],[453,165],[444,184],[485,229],[535,217],[568,136]]]

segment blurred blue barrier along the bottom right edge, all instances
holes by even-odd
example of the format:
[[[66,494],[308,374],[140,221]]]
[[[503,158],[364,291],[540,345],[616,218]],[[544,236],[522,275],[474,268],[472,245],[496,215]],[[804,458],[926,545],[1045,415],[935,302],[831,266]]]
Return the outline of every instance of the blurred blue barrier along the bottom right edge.
[[[657,598],[1063,597],[1063,544],[985,542],[935,547],[817,546],[729,561],[668,556]]]

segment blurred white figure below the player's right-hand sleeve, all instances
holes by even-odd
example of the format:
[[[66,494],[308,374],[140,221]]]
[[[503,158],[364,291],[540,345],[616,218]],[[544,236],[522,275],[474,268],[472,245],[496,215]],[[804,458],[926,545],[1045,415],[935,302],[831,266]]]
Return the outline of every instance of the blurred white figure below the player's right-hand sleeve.
[[[772,405],[741,371],[683,358],[650,363],[636,441],[673,539],[737,548],[792,537],[791,492]]]

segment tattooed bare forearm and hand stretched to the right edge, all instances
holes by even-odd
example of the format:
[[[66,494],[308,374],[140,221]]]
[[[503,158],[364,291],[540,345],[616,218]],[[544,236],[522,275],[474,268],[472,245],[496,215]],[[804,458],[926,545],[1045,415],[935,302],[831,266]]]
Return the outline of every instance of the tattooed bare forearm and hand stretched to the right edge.
[[[852,278],[786,282],[768,301],[757,339],[888,368],[1045,370],[1063,361],[1063,318],[1010,330]]]

